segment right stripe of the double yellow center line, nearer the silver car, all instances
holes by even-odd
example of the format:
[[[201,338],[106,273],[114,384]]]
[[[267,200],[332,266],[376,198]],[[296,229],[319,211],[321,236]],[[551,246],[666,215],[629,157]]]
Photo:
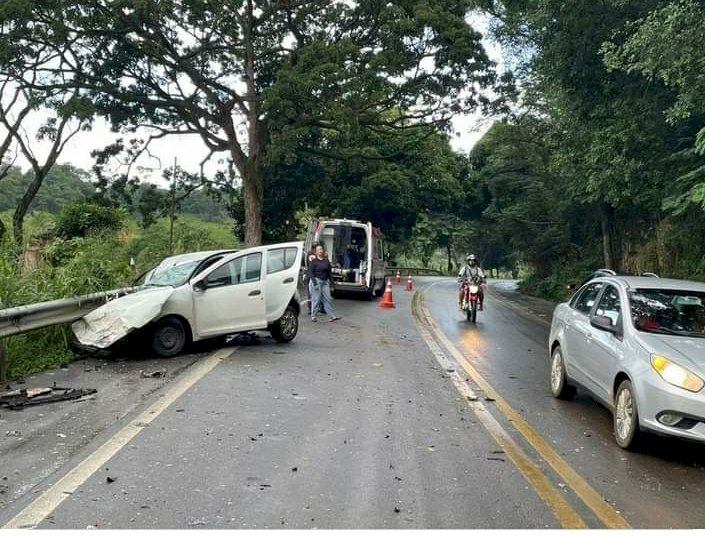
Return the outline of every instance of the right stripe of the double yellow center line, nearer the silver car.
[[[439,282],[440,283],[440,282]],[[436,283],[434,283],[435,285]],[[485,394],[495,399],[495,406],[512,423],[512,426],[528,441],[546,463],[561,477],[565,484],[572,489],[580,500],[597,516],[600,522],[610,529],[628,529],[629,523],[608,504],[595,489],[587,483],[558,452],[539,434],[509,403],[485,380],[485,378],[468,361],[465,354],[456,348],[448,337],[433,320],[426,307],[425,291],[420,295],[417,306],[420,308],[423,318],[429,324],[431,331],[438,340],[451,353],[455,360],[463,367],[466,374],[485,392]],[[472,349],[467,348],[468,353],[479,357]]]

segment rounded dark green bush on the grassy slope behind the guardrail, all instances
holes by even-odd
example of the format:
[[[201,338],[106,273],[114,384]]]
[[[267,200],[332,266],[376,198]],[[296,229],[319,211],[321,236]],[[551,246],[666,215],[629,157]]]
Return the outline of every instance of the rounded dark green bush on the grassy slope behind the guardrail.
[[[76,201],[66,205],[56,219],[56,234],[60,238],[85,237],[91,233],[118,231],[124,225],[123,209],[91,201]]]

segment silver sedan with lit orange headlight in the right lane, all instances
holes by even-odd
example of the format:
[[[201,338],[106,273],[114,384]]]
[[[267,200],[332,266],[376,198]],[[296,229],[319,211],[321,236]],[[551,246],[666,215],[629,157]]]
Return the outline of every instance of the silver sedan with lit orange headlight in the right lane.
[[[705,284],[603,276],[556,307],[553,396],[588,390],[632,448],[650,431],[705,442]]]

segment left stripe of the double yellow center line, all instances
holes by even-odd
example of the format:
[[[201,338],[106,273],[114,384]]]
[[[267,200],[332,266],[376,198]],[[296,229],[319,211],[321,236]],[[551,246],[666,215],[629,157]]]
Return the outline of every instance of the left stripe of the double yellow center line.
[[[414,301],[419,296],[414,296]],[[447,369],[451,362],[446,358],[443,350],[438,346],[431,333],[424,326],[423,319],[420,318],[417,307],[412,306],[416,326],[431,352],[444,369]],[[477,397],[472,389],[460,377],[457,372],[450,373],[450,377],[460,394],[468,400],[470,409],[475,413],[477,420],[485,427],[498,446],[502,448],[507,457],[516,468],[524,475],[526,481],[534,488],[536,494],[548,506],[558,523],[565,529],[585,529],[587,523],[580,517],[580,514],[570,505],[565,494],[559,490],[541,469],[529,458],[524,450],[512,439],[502,425],[497,422],[494,416],[487,411],[484,404],[477,401]]]

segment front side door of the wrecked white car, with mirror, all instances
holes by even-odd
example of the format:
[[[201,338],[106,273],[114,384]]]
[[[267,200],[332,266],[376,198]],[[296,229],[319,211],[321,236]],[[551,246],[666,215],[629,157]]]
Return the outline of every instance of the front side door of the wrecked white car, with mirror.
[[[199,338],[267,327],[263,256],[262,249],[228,256],[197,279],[192,288]]]

